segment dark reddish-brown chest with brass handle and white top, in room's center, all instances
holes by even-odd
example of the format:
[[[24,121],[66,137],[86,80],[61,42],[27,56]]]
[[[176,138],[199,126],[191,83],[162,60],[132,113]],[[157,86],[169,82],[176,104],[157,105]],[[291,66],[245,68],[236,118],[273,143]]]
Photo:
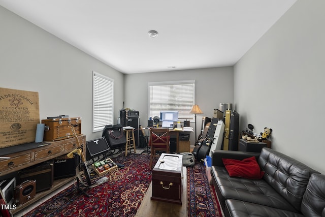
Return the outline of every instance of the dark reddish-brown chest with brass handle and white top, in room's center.
[[[182,204],[183,156],[161,153],[152,169],[151,200]]]

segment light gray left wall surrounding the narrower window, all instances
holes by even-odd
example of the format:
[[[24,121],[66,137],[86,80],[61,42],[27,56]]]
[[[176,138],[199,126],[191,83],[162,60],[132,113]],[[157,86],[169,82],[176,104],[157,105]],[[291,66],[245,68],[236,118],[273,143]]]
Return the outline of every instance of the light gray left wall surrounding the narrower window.
[[[39,92],[40,118],[82,117],[92,133],[92,71],[115,81],[115,104],[123,102],[123,74],[0,6],[0,87]],[[117,119],[117,112],[115,119]]]

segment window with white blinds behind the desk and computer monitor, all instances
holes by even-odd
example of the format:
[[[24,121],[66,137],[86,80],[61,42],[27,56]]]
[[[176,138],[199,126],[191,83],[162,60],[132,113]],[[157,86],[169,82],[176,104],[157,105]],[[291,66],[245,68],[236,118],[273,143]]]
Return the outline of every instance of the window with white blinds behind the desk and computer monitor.
[[[195,81],[151,82],[149,86],[149,117],[160,111],[178,111],[179,120],[192,120],[189,112],[194,104]]]

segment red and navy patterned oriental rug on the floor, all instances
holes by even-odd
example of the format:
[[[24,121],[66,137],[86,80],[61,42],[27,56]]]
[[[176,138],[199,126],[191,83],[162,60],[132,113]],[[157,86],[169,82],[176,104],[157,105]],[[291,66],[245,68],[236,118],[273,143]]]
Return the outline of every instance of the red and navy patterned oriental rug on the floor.
[[[151,183],[150,155],[131,153],[112,160],[125,167],[108,174],[108,182],[88,189],[90,197],[73,184],[24,216],[135,216]],[[197,162],[186,169],[188,216],[222,216],[204,165]]]

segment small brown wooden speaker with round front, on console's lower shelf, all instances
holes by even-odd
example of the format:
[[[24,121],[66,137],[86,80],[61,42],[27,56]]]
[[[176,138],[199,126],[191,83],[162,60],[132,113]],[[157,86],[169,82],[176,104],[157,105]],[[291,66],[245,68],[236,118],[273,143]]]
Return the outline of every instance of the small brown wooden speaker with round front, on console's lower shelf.
[[[18,206],[35,198],[35,195],[36,195],[35,180],[24,181],[20,185],[17,185],[17,187],[14,190],[14,200]]]

